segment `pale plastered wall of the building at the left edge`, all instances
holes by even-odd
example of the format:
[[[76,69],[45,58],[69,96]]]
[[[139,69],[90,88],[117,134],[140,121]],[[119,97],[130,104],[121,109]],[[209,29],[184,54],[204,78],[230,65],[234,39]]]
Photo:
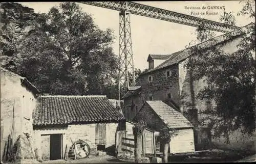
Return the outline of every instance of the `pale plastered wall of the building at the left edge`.
[[[32,113],[36,100],[34,95],[21,85],[20,78],[20,76],[12,72],[1,69],[1,129],[3,130],[3,134],[1,134],[3,136],[1,159],[5,143],[8,141],[8,135],[11,134],[13,123],[13,143],[20,134],[33,133]],[[24,158],[31,156],[26,152],[22,154]]]

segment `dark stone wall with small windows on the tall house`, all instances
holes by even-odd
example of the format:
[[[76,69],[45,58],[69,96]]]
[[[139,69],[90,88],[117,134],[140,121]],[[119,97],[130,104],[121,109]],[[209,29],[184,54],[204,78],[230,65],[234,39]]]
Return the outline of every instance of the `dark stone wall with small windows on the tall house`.
[[[170,77],[166,77],[166,71],[171,71]],[[145,101],[149,100],[149,96],[153,96],[153,100],[165,100],[167,99],[167,94],[170,93],[172,99],[179,104],[179,78],[178,78],[178,65],[173,65],[165,69],[153,71],[141,75],[138,79],[136,86],[141,86],[141,94],[127,97],[124,99],[124,116],[127,119],[133,119],[136,116],[136,108],[138,106],[138,111],[142,107]],[[148,81],[148,76],[153,77],[153,81]],[[135,106],[131,110],[132,101]],[[129,110],[129,117],[128,117]]]

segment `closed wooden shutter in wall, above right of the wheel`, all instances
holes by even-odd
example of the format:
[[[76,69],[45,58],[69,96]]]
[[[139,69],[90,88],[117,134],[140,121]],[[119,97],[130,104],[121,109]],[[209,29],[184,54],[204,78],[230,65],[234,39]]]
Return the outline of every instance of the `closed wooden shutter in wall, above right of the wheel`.
[[[106,124],[99,123],[95,125],[95,132],[96,132],[96,145],[97,144],[106,144]]]

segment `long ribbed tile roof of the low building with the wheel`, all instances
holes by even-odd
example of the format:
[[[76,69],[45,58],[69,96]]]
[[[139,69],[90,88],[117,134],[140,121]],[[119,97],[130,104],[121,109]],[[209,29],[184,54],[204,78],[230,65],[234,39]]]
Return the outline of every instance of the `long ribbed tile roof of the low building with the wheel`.
[[[34,125],[119,122],[124,117],[105,96],[40,96]]]

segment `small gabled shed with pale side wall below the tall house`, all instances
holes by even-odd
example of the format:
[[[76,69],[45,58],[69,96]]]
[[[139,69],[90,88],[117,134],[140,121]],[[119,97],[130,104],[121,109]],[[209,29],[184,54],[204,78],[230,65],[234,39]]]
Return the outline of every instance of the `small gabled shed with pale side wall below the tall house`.
[[[162,128],[175,130],[177,134],[169,143],[169,153],[194,153],[193,125],[173,107],[163,101],[145,101],[136,120],[144,120],[155,131],[156,152],[163,152],[163,144],[157,138]]]

